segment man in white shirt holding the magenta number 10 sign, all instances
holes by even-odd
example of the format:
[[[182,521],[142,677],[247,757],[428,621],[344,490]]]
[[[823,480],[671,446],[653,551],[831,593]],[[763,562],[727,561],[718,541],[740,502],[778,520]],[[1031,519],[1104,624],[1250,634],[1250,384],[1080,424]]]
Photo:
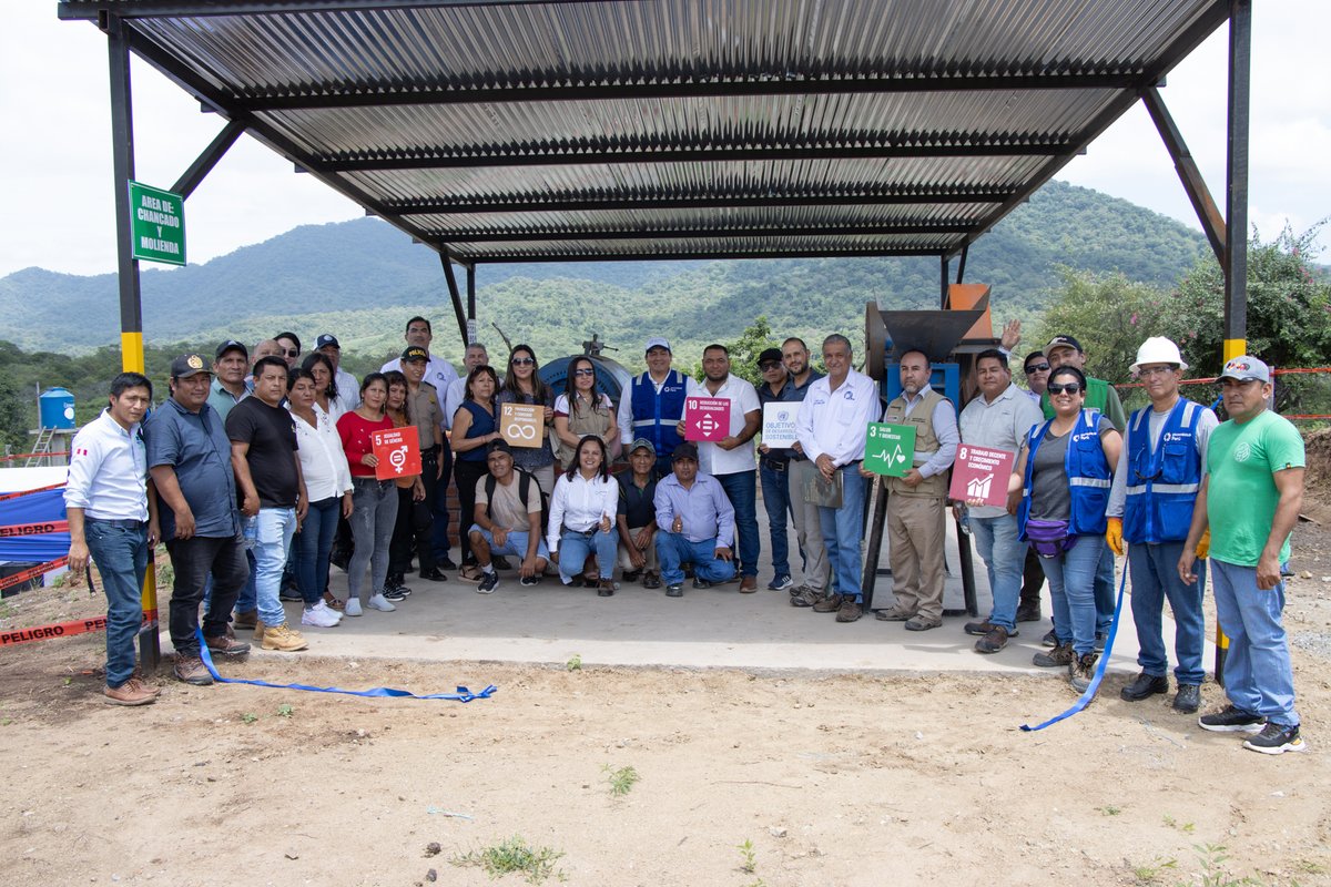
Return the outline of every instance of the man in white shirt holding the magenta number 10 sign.
[[[735,531],[739,537],[740,592],[757,590],[757,557],[761,541],[757,532],[757,459],[753,435],[763,424],[763,407],[757,390],[745,379],[731,374],[731,352],[724,344],[703,350],[704,380],[688,379],[688,396],[724,398],[731,402],[731,427],[721,440],[697,442],[699,469],[720,481],[735,507]],[[679,435],[687,438],[684,422]]]

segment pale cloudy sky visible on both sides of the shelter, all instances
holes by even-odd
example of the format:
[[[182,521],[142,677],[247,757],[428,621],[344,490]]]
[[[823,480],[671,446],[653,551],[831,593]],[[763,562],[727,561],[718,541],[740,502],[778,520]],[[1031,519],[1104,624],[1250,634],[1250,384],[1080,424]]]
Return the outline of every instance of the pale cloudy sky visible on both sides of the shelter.
[[[1162,90],[1222,211],[1227,33],[1213,35]],[[1331,215],[1327,33],[1326,0],[1254,0],[1248,221],[1266,241],[1286,223],[1302,233]],[[0,215],[0,277],[29,266],[114,271],[106,65],[106,40],[91,23],[57,20],[53,0],[7,0],[0,120],[9,136],[0,140],[0,176],[9,211]],[[222,121],[137,59],[130,78],[136,178],[170,188]],[[1201,230],[1141,102],[1058,178]],[[188,258],[206,262],[297,225],[363,214],[244,136],[185,205]],[[1318,245],[1319,261],[1331,262],[1331,230]]]

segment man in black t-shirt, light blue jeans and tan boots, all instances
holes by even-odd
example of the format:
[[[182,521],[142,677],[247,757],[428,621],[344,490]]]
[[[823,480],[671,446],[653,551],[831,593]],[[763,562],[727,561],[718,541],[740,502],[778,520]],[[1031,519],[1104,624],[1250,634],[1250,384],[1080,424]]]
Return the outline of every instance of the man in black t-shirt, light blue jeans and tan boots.
[[[226,416],[226,436],[232,442],[232,468],[248,521],[246,537],[253,540],[254,590],[258,596],[260,624],[265,650],[286,653],[309,646],[299,632],[287,626],[278,598],[282,568],[291,548],[297,523],[305,517],[309,497],[295,452],[295,424],[284,408],[286,362],[264,358],[254,364],[254,396],[241,400]]]

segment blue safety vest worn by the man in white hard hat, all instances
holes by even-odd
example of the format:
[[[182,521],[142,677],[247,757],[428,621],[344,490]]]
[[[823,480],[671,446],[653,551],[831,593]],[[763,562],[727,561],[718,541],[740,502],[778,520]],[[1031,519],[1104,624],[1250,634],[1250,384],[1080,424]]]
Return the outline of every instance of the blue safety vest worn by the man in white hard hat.
[[[1197,445],[1202,407],[1179,398],[1165,419],[1155,452],[1151,452],[1150,414],[1151,408],[1143,407],[1127,422],[1123,540],[1179,543],[1187,539],[1202,484],[1202,453]]]

